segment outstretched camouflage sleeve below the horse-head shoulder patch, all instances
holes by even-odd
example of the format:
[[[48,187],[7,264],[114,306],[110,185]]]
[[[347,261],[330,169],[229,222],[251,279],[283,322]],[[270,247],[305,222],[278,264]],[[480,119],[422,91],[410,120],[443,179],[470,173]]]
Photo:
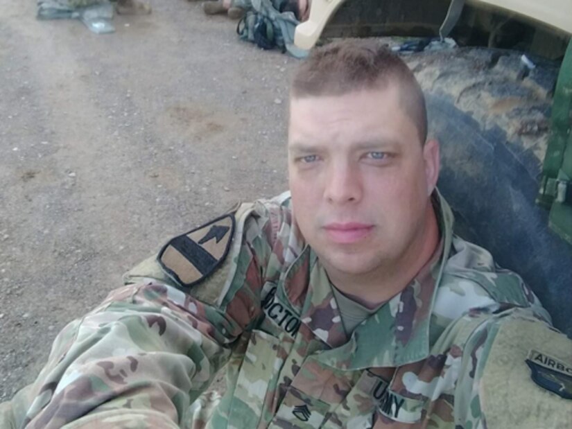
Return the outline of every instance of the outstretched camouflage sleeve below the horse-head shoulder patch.
[[[241,329],[171,286],[116,290],[58,335],[28,397],[15,398],[29,403],[17,425],[114,428],[132,420],[177,428]]]

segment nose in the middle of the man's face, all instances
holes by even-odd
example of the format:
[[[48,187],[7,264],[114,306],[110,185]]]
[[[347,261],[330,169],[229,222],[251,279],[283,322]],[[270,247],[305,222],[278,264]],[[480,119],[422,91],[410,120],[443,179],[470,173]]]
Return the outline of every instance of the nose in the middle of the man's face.
[[[356,166],[331,164],[328,170],[324,195],[327,202],[340,205],[361,200],[363,186]]]

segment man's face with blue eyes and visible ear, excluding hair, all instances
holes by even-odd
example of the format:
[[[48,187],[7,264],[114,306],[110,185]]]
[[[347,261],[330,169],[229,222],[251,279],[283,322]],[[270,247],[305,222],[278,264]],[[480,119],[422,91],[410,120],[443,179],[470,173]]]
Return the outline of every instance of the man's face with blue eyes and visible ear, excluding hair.
[[[291,100],[294,216],[327,270],[359,275],[411,259],[438,169],[437,142],[422,144],[395,85]]]

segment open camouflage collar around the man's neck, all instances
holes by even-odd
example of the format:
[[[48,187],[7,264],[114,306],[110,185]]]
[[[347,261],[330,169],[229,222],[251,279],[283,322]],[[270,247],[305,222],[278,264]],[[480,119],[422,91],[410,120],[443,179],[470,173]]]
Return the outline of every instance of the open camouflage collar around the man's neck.
[[[324,365],[347,370],[398,367],[428,356],[431,310],[451,249],[453,229],[449,204],[438,191],[432,200],[441,231],[437,251],[404,290],[356,327],[349,340],[327,274],[314,252],[309,247],[304,249],[304,259],[309,262],[309,288],[300,319],[331,347],[318,356]]]

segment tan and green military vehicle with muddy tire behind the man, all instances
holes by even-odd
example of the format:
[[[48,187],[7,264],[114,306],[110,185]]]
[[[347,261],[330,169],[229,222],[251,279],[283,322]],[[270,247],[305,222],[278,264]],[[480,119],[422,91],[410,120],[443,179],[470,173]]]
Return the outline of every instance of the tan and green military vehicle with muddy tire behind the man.
[[[571,0],[313,0],[295,44],[391,37],[426,94],[458,233],[572,338],[571,35]]]

